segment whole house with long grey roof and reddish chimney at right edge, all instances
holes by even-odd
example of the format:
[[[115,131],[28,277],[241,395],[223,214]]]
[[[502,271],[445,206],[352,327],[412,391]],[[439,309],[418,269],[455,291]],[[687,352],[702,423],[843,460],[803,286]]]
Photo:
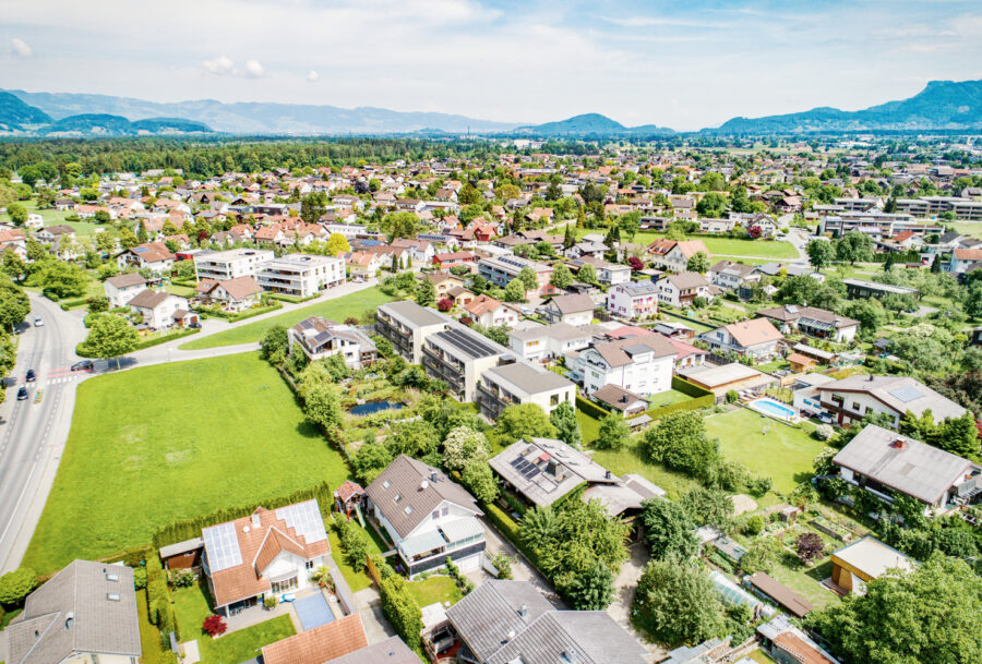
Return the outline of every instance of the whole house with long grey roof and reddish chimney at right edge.
[[[839,475],[854,486],[894,503],[895,493],[930,509],[982,500],[982,468],[938,447],[867,424],[833,458]]]

